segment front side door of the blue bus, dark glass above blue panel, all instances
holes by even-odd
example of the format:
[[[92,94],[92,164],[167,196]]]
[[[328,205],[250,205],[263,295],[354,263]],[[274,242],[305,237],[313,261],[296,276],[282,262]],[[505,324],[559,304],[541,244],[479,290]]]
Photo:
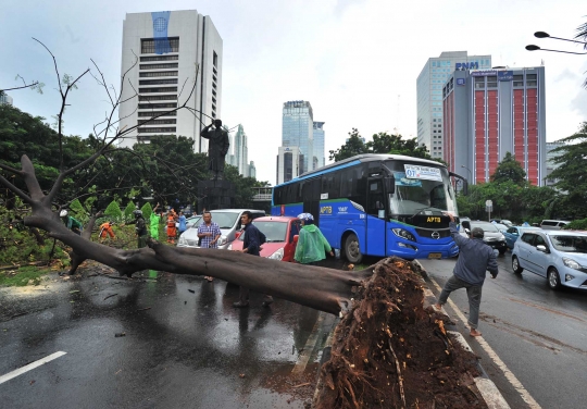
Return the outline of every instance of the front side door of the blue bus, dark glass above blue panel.
[[[366,253],[386,256],[386,201],[382,178],[367,179]]]

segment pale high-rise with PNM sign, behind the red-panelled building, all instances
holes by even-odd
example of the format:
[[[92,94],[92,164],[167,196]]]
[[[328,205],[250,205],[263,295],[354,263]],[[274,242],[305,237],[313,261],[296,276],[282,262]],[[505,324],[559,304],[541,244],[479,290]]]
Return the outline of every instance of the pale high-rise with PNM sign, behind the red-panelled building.
[[[442,86],[455,70],[486,70],[491,55],[467,55],[445,51],[429,58],[417,76],[417,145],[425,145],[433,158],[442,158]]]

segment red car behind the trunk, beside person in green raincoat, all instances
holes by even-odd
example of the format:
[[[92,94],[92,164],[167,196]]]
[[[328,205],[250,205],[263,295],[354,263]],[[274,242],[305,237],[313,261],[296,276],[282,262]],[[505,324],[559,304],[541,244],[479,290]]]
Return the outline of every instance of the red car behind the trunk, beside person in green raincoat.
[[[300,234],[300,220],[290,216],[264,216],[257,218],[252,224],[259,228],[267,238],[261,246],[261,257],[267,259],[294,261],[298,235]],[[228,250],[242,250],[242,233],[234,240]]]

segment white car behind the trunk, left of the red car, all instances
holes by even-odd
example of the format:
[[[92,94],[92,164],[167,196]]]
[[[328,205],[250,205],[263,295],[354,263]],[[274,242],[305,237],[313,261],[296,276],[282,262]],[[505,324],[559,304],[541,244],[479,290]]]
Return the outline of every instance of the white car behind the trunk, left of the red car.
[[[221,210],[211,210],[212,221],[217,223],[221,228],[222,236],[218,239],[218,248],[226,249],[230,243],[237,237],[237,232],[240,231],[240,216],[242,212],[249,209],[221,209]],[[249,210],[253,220],[257,218],[262,218],[265,215],[263,210]],[[203,220],[202,220],[203,221]],[[177,247],[192,247],[198,248],[199,237],[198,237],[198,227],[202,221],[197,222],[191,225],[190,228],[182,233],[179,239],[177,240]]]

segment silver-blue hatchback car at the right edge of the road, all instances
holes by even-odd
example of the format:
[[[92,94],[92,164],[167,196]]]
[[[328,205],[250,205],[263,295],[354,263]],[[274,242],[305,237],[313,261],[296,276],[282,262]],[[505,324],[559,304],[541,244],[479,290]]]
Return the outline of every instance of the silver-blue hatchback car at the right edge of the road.
[[[548,286],[587,289],[587,234],[561,231],[524,232],[512,251],[512,269],[547,278]]]

